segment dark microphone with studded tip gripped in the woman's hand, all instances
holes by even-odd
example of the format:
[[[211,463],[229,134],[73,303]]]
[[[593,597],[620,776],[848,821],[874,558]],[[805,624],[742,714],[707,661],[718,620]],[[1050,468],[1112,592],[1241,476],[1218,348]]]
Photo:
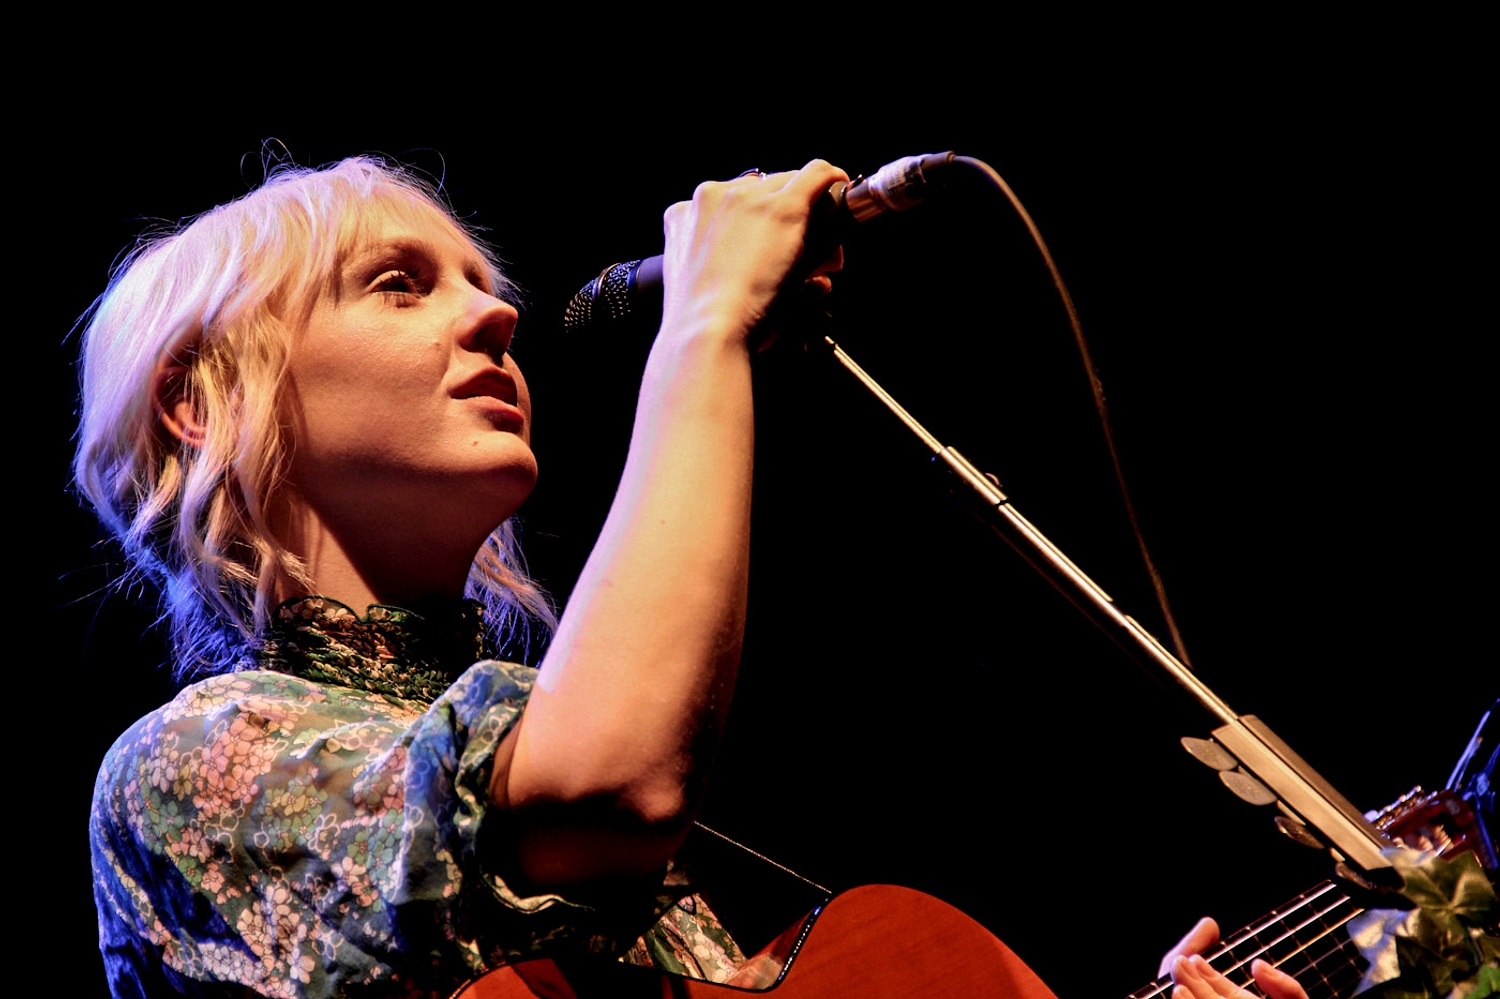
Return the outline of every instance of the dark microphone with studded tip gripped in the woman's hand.
[[[880,166],[870,177],[855,177],[828,207],[814,210],[807,226],[804,260],[824,260],[843,237],[862,222],[891,212],[906,212],[922,202],[944,182],[954,154],[904,156]],[[584,285],[562,312],[562,328],[573,332],[594,322],[618,322],[628,316],[662,316],[662,255],[612,264]]]

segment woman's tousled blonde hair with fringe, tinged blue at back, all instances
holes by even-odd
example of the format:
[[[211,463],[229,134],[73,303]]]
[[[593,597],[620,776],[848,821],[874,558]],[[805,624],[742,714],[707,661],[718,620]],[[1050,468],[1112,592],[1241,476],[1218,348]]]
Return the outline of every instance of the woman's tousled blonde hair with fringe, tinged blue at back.
[[[130,574],[160,590],[178,675],[228,669],[267,622],[280,579],[308,586],[302,561],[268,526],[286,474],[284,418],[291,339],[375,212],[436,213],[488,262],[494,254],[435,188],[374,159],[322,170],[276,166],[252,194],[170,232],[142,237],[86,316],[74,474],[124,548]],[[202,441],[159,418],[158,380],[176,376]],[[486,604],[490,644],[555,624],[525,573],[512,524],[483,544],[468,594]]]

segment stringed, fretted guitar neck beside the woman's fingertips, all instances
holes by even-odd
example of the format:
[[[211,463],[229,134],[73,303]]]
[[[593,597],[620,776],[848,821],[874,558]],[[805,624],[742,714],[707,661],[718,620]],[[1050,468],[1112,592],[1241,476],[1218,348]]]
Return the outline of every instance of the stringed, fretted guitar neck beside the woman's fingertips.
[[[1347,999],[1364,976],[1364,960],[1346,924],[1364,912],[1330,880],[1302,892],[1287,904],[1234,933],[1204,957],[1226,978],[1263,994],[1250,978],[1258,957],[1293,975],[1310,999]],[[1155,999],[1172,992],[1172,978],[1130,993],[1126,999]]]

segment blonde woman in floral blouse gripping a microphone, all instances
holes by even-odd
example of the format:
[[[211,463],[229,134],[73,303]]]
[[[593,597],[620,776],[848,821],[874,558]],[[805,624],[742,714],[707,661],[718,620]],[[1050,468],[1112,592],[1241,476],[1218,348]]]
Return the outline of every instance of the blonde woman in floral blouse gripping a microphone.
[[[441,998],[584,952],[735,972],[669,860],[740,658],[752,339],[788,285],[828,288],[837,260],[798,261],[840,180],[814,160],[666,213],[624,474],[537,669],[486,658],[552,624],[508,526],[537,476],[518,314],[429,188],[279,170],[124,261],[75,474],[194,682],[96,784],[116,996]]]

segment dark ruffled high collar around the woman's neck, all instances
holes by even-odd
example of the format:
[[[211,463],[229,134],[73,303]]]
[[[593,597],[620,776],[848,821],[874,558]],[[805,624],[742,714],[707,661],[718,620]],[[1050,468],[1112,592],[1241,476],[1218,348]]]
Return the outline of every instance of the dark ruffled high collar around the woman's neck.
[[[474,600],[422,614],[370,604],[362,618],[328,597],[288,600],[238,669],[274,669],[316,682],[430,704],[484,657]]]

